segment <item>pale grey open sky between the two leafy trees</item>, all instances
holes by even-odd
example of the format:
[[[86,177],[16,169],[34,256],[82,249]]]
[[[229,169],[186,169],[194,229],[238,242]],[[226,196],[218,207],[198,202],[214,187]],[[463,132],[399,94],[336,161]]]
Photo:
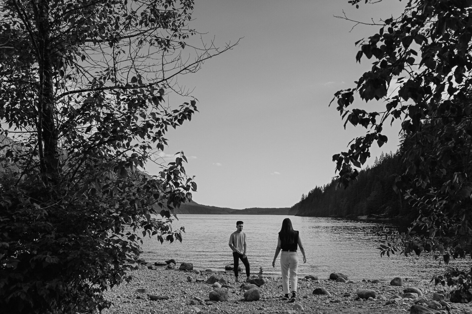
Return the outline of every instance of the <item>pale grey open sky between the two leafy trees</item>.
[[[354,20],[378,22],[398,16],[404,5],[384,0],[356,9],[347,0],[196,0],[189,25],[205,33],[205,41],[214,38],[223,47],[242,39],[197,73],[178,77],[194,90],[199,112],[169,130],[162,156],[184,151],[186,173],[198,185],[194,201],[237,209],[291,207],[302,193],[329,183],[336,176],[332,156],[366,131],[352,125],[345,130],[329,102],[371,67],[372,59],[355,62],[354,42],[380,28],[352,29],[353,22],[334,16],[344,10]],[[353,107],[384,108],[360,99]],[[382,151],[396,151],[399,124],[385,129],[388,143],[375,146],[366,165]],[[146,171],[159,169],[149,164]]]

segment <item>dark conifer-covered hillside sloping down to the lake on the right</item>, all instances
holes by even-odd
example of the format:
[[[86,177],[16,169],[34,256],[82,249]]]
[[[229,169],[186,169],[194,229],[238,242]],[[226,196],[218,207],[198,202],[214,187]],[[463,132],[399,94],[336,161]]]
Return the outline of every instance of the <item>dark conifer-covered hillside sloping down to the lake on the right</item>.
[[[347,189],[337,187],[335,178],[328,184],[316,186],[300,202],[290,208],[292,215],[346,217],[413,217],[417,215],[402,193],[393,189],[395,178],[404,165],[400,153],[382,153],[374,165],[361,170],[356,181]]]

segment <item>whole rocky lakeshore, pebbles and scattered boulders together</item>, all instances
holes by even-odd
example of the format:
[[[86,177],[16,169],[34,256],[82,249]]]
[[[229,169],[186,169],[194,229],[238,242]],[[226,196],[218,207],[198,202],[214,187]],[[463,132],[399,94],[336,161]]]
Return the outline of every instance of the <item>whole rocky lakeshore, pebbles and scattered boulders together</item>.
[[[256,269],[250,282],[236,283],[231,271],[197,270],[191,263],[181,263],[178,269],[168,262],[130,270],[129,283],[106,292],[113,306],[102,313],[472,314],[471,305],[449,302],[450,288],[429,281],[400,277],[352,281],[341,273],[332,273],[331,279],[312,275],[299,278],[297,298],[290,303],[282,295],[281,278],[265,276],[262,270],[257,274]]]

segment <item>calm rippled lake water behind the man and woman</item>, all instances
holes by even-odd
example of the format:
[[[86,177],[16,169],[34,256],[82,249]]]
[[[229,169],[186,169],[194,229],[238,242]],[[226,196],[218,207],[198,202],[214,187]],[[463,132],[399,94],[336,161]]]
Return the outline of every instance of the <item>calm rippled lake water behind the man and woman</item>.
[[[223,271],[225,265],[232,264],[229,236],[236,231],[236,221],[244,221],[247,237],[247,256],[251,272],[280,273],[280,255],[276,267],[272,259],[277,246],[278,231],[282,220],[289,217],[305,248],[307,263],[299,264],[299,275],[317,275],[328,278],[337,271],[350,279],[362,278],[392,279],[396,276],[417,279],[431,279],[434,274],[444,273],[444,264],[439,265],[431,256],[405,257],[392,255],[380,257],[376,247],[380,238],[371,228],[375,223],[334,218],[298,217],[283,215],[179,215],[173,228],[185,226],[183,241],[160,244],[157,238],[146,238],[143,254],[147,261],[154,262],[174,258],[180,262],[190,262],[194,268],[211,268]],[[299,252],[299,260],[302,254]],[[471,260],[454,261],[451,266],[470,267]],[[461,263],[461,264],[458,264]],[[465,264],[467,263],[467,264]],[[242,264],[242,263],[240,263]]]

